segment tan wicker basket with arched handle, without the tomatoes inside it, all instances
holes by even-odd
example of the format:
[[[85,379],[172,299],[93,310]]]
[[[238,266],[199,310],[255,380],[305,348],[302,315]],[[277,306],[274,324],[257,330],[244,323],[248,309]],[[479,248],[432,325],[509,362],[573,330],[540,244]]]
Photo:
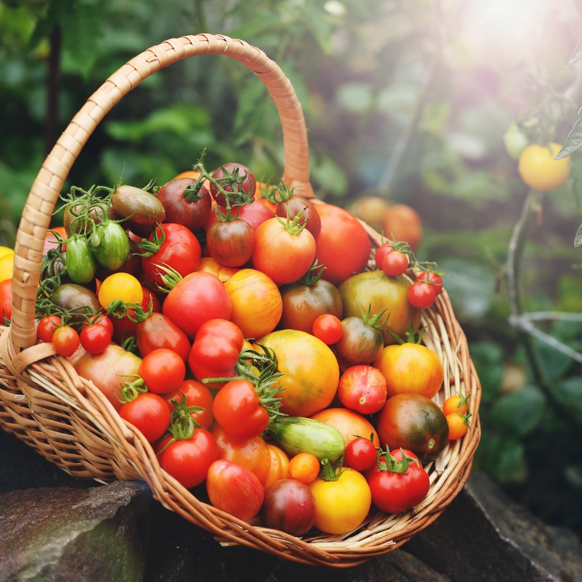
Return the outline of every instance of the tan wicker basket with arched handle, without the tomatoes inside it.
[[[434,324],[424,333],[425,343],[437,351],[445,369],[445,382],[435,400],[442,404],[451,393],[470,392],[471,430],[425,467],[431,487],[423,503],[398,515],[372,510],[356,531],[341,536],[315,531],[297,538],[261,527],[258,521],[246,523],[199,501],[161,470],[150,444],[119,417],[92,382],[79,377],[66,358],[55,356],[51,343],[36,343],[34,307],[44,237],[81,148],[104,115],[140,81],[180,59],[214,53],[242,62],[267,86],[283,127],[283,179],[300,186],[303,196],[314,197],[301,105],[281,69],[259,49],[225,36],[198,34],[162,42],[129,61],[74,116],[42,164],[27,199],[16,237],[12,325],[0,327],[0,424],[77,477],[147,481],[164,506],[210,531],[222,544],[246,545],[296,562],[354,566],[398,548],[427,527],[469,476],[480,438],[481,388],[446,292],[424,313],[424,323]],[[378,233],[366,229],[375,249]]]

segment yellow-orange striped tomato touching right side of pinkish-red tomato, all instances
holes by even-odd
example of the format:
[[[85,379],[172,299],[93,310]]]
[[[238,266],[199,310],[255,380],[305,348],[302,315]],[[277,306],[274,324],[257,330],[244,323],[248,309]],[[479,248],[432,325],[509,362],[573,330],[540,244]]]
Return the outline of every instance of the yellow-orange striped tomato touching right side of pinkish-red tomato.
[[[260,338],[275,329],[283,311],[275,282],[256,269],[241,269],[224,284],[232,301],[230,320],[246,338]]]

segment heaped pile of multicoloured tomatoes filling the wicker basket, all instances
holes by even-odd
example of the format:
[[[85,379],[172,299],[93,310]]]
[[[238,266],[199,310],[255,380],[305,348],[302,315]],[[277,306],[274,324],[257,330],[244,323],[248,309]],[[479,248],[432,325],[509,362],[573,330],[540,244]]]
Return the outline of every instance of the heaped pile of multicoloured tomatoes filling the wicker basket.
[[[159,189],[73,188],[64,202],[38,338],[171,477],[296,535],[345,534],[372,504],[423,501],[423,464],[460,436],[431,400],[443,368],[417,336],[442,290],[437,265],[405,242],[371,259],[349,212],[235,163],[211,174],[199,162]],[[466,430],[466,399],[448,406]]]

